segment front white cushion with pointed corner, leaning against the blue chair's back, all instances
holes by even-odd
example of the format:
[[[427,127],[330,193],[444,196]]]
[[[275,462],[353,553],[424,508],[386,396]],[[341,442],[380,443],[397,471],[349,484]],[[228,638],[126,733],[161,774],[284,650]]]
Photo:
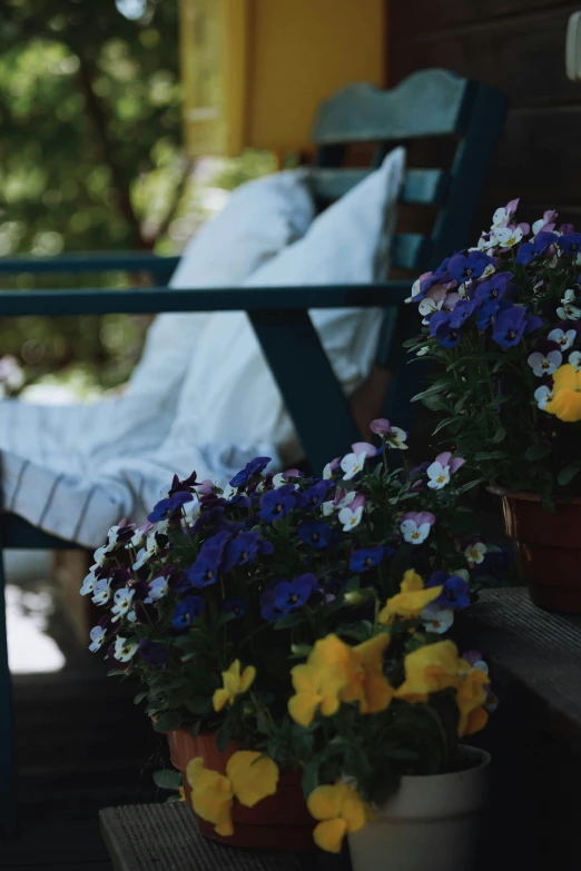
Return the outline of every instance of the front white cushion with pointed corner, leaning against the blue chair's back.
[[[380,169],[319,215],[304,238],[254,273],[246,286],[279,287],[284,300],[285,285],[367,284],[384,278],[387,263],[378,275],[377,257],[391,240],[404,164],[404,150],[392,151]],[[381,311],[319,309],[311,311],[311,317],[335,374],[347,393],[353,390],[371,370]],[[295,365],[297,378],[308,378],[301,366],[299,347]],[[171,443],[176,457],[187,452],[188,443],[203,448],[216,474],[233,446],[252,454],[266,445],[285,462],[301,455],[283,398],[245,314],[209,318],[179,397],[168,446]]]

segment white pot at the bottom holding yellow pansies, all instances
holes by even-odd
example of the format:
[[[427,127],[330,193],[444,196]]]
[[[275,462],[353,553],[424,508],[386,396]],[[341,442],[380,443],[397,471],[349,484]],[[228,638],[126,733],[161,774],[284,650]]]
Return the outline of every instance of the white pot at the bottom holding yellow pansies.
[[[464,749],[472,768],[404,776],[364,829],[348,835],[353,871],[472,871],[490,755]]]

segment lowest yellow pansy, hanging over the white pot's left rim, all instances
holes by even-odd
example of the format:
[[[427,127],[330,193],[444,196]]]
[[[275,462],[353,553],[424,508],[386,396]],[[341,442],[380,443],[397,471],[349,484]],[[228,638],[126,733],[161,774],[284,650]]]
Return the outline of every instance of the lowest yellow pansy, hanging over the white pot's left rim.
[[[345,834],[363,829],[367,821],[363,800],[346,783],[317,786],[307,799],[307,808],[315,820],[321,820],[313,839],[328,853],[338,853]]]

